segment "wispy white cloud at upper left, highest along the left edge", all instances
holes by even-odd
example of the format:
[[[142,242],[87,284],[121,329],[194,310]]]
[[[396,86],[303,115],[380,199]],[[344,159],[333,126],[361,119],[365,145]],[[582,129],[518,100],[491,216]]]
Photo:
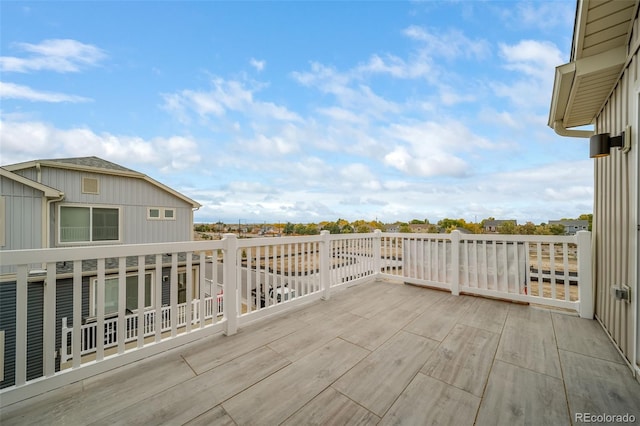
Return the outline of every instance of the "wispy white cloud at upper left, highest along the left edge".
[[[4,72],[78,72],[96,66],[107,57],[102,49],[94,45],[70,39],[50,39],[39,44],[15,43],[13,46],[30,55],[0,56],[0,70]]]

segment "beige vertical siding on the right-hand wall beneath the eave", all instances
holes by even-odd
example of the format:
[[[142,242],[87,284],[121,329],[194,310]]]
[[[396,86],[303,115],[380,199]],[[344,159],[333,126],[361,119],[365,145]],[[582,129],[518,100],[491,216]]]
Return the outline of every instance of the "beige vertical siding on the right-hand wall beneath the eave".
[[[639,20],[629,42],[628,66],[603,106],[596,133],[617,136],[630,125],[632,148],[627,154],[612,149],[608,157],[594,160],[594,277],[596,316],[631,364],[640,364],[640,342],[634,317],[638,303],[638,130],[640,119],[640,61],[637,55]],[[628,285],[633,303],[616,300],[612,288]],[[633,358],[636,358],[635,360]]]

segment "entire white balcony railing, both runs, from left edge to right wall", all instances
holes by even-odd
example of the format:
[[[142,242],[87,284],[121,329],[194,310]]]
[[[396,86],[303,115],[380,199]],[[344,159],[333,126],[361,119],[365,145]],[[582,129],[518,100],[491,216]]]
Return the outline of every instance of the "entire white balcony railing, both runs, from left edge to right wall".
[[[10,404],[207,335],[231,335],[261,317],[375,279],[593,317],[590,256],[588,232],[226,234],[220,241],[3,251],[0,270],[12,273],[1,277],[0,290],[9,290],[2,294],[13,302],[3,306],[14,307],[15,323],[5,332],[0,399]],[[106,280],[118,282],[117,295],[109,295],[118,298],[115,313],[105,313]],[[178,303],[179,282],[185,303]],[[135,285],[132,313],[127,289]],[[210,296],[217,293],[224,299]],[[36,317],[42,330],[28,326]]]

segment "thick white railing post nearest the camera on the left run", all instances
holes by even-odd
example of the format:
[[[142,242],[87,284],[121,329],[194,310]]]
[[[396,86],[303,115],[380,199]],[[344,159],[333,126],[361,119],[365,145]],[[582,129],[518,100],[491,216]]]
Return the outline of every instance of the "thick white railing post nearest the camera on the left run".
[[[231,336],[238,331],[238,240],[236,234],[224,234],[224,265],[222,283],[224,299],[222,308],[227,319],[224,334]]]

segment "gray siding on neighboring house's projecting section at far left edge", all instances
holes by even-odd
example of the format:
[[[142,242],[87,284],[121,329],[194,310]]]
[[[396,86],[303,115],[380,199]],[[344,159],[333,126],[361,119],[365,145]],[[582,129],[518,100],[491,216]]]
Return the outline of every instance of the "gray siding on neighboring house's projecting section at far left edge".
[[[5,177],[0,177],[0,194],[6,214],[2,250],[42,248],[44,194]]]

